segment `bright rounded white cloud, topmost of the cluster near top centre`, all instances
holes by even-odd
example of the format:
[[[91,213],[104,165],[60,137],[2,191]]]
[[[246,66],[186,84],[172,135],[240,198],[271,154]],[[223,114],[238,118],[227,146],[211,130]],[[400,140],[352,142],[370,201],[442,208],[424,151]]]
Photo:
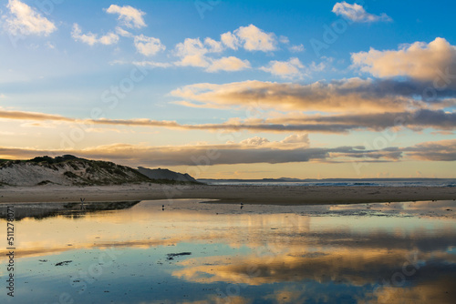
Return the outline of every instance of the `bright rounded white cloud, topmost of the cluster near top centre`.
[[[241,26],[234,31],[244,49],[248,51],[274,51],[277,42],[273,33],[265,33],[255,25]]]

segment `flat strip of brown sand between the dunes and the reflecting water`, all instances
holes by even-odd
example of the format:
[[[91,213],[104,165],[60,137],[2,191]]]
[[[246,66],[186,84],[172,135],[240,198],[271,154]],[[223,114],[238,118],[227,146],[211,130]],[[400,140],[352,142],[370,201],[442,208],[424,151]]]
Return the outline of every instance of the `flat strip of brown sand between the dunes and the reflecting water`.
[[[0,187],[0,203],[201,198],[244,204],[352,204],[456,199],[455,187],[169,186]]]

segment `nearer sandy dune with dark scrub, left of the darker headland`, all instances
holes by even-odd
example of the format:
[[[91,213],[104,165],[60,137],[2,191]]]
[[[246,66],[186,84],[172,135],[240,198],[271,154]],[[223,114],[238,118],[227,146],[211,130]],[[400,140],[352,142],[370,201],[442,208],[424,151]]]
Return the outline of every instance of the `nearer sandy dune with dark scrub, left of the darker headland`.
[[[89,186],[140,182],[151,182],[151,180],[131,167],[70,155],[0,162],[0,185]]]

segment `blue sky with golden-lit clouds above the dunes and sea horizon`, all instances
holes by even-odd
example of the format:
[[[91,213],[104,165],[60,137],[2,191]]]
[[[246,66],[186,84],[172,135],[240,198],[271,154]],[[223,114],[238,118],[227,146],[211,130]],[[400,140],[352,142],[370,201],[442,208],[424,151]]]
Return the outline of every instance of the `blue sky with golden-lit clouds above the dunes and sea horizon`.
[[[456,177],[455,4],[0,1],[0,158]]]

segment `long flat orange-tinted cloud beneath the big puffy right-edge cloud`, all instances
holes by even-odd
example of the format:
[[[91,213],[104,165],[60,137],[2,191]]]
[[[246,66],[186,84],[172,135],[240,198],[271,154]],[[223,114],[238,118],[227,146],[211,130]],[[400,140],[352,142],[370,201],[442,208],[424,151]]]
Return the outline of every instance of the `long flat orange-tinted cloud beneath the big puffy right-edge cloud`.
[[[390,90],[389,90],[390,89]],[[418,88],[400,86],[372,79],[349,78],[309,85],[244,81],[223,85],[196,84],[182,86],[171,96],[183,99],[184,106],[326,112],[383,112],[422,106],[411,98]],[[419,93],[420,94],[420,93]]]

